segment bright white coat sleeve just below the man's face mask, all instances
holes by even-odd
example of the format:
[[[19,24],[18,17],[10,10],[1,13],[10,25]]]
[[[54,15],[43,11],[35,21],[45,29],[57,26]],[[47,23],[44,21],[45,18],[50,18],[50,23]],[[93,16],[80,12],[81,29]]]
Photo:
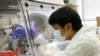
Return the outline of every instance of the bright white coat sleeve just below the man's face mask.
[[[41,56],[52,56],[52,54],[65,50],[69,43],[70,41],[55,41],[46,45],[41,45],[38,49],[40,51]]]

